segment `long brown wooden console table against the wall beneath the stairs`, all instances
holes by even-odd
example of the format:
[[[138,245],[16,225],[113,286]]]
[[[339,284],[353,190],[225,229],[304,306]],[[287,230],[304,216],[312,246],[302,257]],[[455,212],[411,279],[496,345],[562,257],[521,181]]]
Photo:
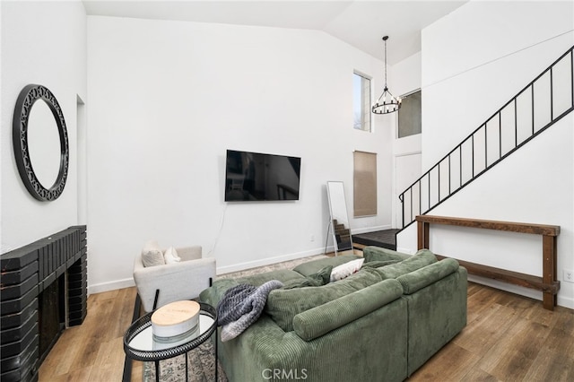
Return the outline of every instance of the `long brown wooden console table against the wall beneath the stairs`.
[[[464,266],[470,274],[542,291],[544,308],[553,310],[556,306],[556,297],[560,290],[560,282],[556,280],[556,254],[560,226],[510,221],[484,221],[431,215],[419,215],[416,217],[416,221],[419,249],[429,248],[429,231],[431,224],[454,225],[458,227],[480,228],[487,230],[507,230],[517,233],[542,235],[542,277],[534,276],[532,274],[512,272],[487,265],[469,263],[461,260],[458,260],[458,263]],[[444,256],[437,257],[444,258]]]

